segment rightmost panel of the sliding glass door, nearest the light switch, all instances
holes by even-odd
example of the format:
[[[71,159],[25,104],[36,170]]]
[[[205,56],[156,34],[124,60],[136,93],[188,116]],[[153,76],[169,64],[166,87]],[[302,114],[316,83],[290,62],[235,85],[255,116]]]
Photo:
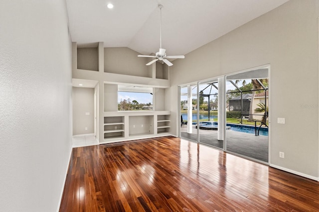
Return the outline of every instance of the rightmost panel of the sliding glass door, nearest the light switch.
[[[268,162],[268,68],[226,76],[226,150]]]

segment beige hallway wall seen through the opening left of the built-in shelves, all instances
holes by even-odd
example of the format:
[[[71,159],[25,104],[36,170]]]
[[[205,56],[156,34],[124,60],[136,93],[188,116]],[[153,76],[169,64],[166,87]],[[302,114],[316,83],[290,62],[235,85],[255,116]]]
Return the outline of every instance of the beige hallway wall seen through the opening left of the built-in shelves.
[[[94,89],[73,87],[72,108],[73,135],[94,133]]]

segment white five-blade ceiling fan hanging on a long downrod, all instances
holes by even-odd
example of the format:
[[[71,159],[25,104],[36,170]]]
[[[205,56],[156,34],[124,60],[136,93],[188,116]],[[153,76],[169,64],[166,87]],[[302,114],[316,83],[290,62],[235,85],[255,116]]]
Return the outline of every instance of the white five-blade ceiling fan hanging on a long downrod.
[[[149,62],[148,64],[146,64],[147,66],[151,65],[152,63],[155,63],[156,61],[160,60],[164,63],[166,63],[167,66],[172,66],[173,64],[171,62],[169,62],[167,59],[177,59],[177,58],[185,58],[184,55],[174,55],[174,56],[166,56],[166,49],[162,49],[161,48],[161,9],[163,8],[163,5],[159,4],[159,8],[160,8],[160,51],[156,53],[155,56],[152,55],[138,55],[138,57],[152,57],[152,58],[156,58],[154,60],[152,60],[151,62]]]

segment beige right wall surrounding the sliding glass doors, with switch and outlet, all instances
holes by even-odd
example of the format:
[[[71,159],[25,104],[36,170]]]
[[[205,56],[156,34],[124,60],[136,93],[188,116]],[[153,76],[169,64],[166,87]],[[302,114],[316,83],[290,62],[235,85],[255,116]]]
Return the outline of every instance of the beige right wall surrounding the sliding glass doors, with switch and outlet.
[[[172,115],[178,114],[177,85],[270,64],[270,163],[318,178],[318,5],[288,1],[175,60],[168,94]],[[171,130],[177,134],[176,127]]]

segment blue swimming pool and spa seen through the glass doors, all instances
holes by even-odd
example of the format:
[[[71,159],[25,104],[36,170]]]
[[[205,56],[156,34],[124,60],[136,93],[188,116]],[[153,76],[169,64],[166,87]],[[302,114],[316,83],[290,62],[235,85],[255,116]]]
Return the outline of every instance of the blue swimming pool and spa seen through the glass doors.
[[[193,122],[193,125],[196,125],[197,122]],[[212,127],[218,127],[218,122],[215,121],[200,121],[199,126],[205,125],[205,126],[212,126]],[[255,134],[255,126],[251,125],[242,125],[242,124],[232,124],[232,123],[226,123],[226,126],[229,126],[231,130],[237,131],[237,132],[246,132]],[[257,130],[258,130],[257,126]],[[259,135],[265,135],[268,136],[268,127],[260,127]]]

